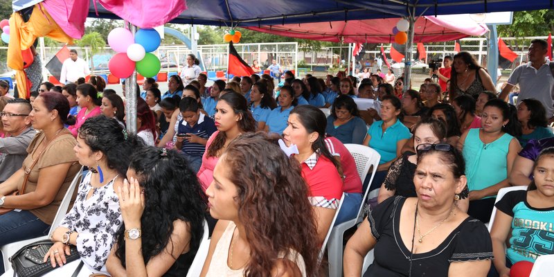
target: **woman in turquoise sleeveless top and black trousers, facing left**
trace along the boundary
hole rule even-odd
[[[481,128],[468,129],[458,141],[465,159],[470,208],[467,214],[489,222],[498,190],[510,186],[508,176],[521,146],[515,107],[502,100],[490,100],[481,116]]]

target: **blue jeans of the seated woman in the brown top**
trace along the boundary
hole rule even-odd
[[[29,211],[11,211],[0,215],[0,246],[48,235],[49,231],[50,225],[42,222]],[[3,272],[3,260],[0,259],[0,273]]]

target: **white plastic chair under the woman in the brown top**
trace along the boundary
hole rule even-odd
[[[48,231],[48,235],[43,235],[39,238],[31,238],[29,240],[21,240],[19,242],[12,242],[10,244],[6,244],[3,247],[0,248],[0,251],[2,252],[2,258],[4,262],[4,269],[10,269],[12,267],[12,263],[10,260],[8,260],[15,252],[17,252],[21,247],[26,246],[27,244],[30,244],[31,242],[35,242],[37,240],[46,240],[50,238],[54,230],[57,228],[57,226],[60,226],[62,223],[62,220],[64,219],[64,216],[67,213],[67,209],[69,208],[69,204],[71,203],[71,198],[73,197],[73,193],[75,192],[75,188],[78,187],[78,184],[81,183],[82,179],[82,167],[77,172],[77,175],[73,178],[73,181],[71,181],[71,184],[69,185],[69,188],[67,188],[67,191],[64,195],[64,198],[62,199],[62,202],[60,203],[60,207],[57,209],[56,216],[54,217],[54,221],[52,222],[52,225],[50,227],[50,231]]]

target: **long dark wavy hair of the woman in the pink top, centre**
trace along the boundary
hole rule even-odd
[[[240,120],[238,120],[237,125],[242,134],[247,132],[256,132],[256,120],[252,117],[250,110],[248,109],[247,99],[238,92],[228,92],[220,97],[220,101],[225,101],[235,114],[240,115]],[[213,139],[212,144],[208,147],[207,157],[217,156],[217,151],[223,148],[227,135],[225,132],[217,133],[215,139]]]

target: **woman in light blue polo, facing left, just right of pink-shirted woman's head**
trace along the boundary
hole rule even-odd
[[[265,123],[271,109],[277,107],[275,99],[267,93],[267,85],[264,82],[256,82],[250,91],[250,112],[258,123],[258,130],[265,128]]]

